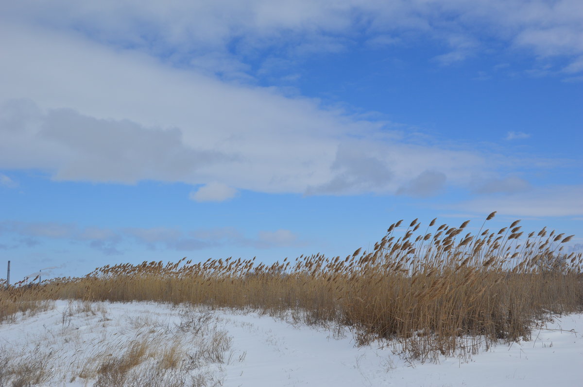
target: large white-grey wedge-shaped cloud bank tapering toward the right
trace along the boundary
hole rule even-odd
[[[60,180],[357,194],[395,191],[430,167],[465,184],[493,165],[476,152],[399,140],[386,122],[273,88],[60,33],[0,30],[0,168],[40,168]]]

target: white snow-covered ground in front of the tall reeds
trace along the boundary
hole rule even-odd
[[[567,315],[537,329],[529,342],[500,344],[468,362],[412,365],[378,343],[355,347],[349,331],[342,336],[252,312],[57,301],[54,310],[0,325],[0,367],[2,353],[11,364],[44,358],[52,382],[42,385],[92,386],[100,364],[142,342],[150,352],[135,367],[138,374],[170,369],[156,361],[173,347],[189,359],[175,377],[167,375],[179,385],[580,386],[582,334],[583,315]]]

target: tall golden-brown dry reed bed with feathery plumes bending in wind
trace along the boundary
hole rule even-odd
[[[495,212],[486,220],[494,217]],[[59,278],[43,286],[0,293],[0,320],[34,300],[156,300],[290,310],[307,324],[349,326],[360,343],[392,339],[409,358],[436,360],[475,352],[499,339],[528,339],[548,315],[583,310],[582,254],[564,254],[573,236],[524,235],[520,221],[472,236],[436,226],[403,236],[394,223],[374,250],[345,258],[301,256],[272,265],[227,258],[192,264],[143,262],[98,268],[83,278]]]

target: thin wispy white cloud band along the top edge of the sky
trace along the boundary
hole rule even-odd
[[[537,55],[583,54],[579,0],[22,0],[3,2],[0,10],[6,20],[75,31],[180,65],[194,59],[195,66],[215,71],[215,59],[222,58],[215,69],[235,77],[250,70],[245,56],[265,48],[291,56],[338,52],[360,36],[389,44],[429,37],[451,48],[441,56],[446,62],[491,39]]]

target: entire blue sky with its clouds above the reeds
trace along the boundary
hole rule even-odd
[[[583,244],[578,0],[2,2],[0,46],[13,281],[491,211]]]

